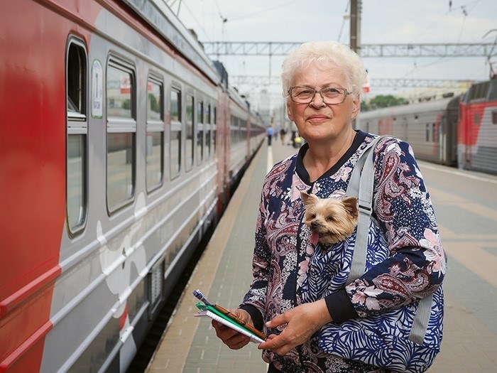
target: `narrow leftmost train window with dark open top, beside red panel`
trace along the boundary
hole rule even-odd
[[[75,38],[67,48],[66,208],[71,234],[82,230],[87,216],[87,54]]]

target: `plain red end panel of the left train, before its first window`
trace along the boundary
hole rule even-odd
[[[64,4],[71,9],[75,2]],[[0,371],[37,372],[65,225],[65,45],[58,4],[8,1],[0,23]],[[89,4],[82,17],[94,19]],[[53,58],[53,56],[60,56]]]

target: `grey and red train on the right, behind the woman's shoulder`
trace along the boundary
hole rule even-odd
[[[423,161],[497,174],[497,79],[455,97],[361,112],[356,128],[408,141]]]

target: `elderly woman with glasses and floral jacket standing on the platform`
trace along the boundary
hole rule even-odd
[[[365,79],[359,56],[334,42],[305,43],[283,63],[288,117],[307,144],[264,180],[253,282],[234,310],[268,335],[259,345],[268,372],[388,372],[374,352],[372,358],[351,357],[329,336],[338,335],[349,320],[370,320],[435,291],[442,298],[445,261],[435,214],[413,151],[403,141],[386,138],[374,149],[373,217],[378,223],[369,229],[379,249],[368,246],[364,275],[346,285],[354,234],[324,247],[310,242],[300,192],[343,198],[351,171],[374,137],[352,127]],[[325,291],[312,285],[320,278],[327,281]],[[231,349],[249,342],[213,325]],[[441,329],[441,319],[438,325]],[[337,338],[345,344],[342,350],[363,349],[361,341]]]

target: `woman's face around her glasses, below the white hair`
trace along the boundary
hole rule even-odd
[[[345,88],[351,87],[346,83],[344,72],[334,65],[322,70],[317,65],[297,71],[293,86],[300,85],[315,90],[325,87]],[[297,104],[291,99],[287,101],[288,118],[295,121],[297,129],[307,142],[333,141],[340,135],[352,131],[351,121],[359,113],[359,95],[349,94],[342,104],[324,104],[319,93],[315,94],[310,104]]]

